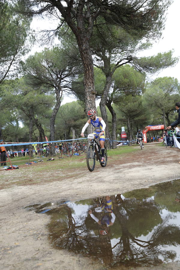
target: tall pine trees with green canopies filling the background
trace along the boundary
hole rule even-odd
[[[120,140],[122,126],[133,140],[146,125],[170,125],[179,101],[178,79],[149,80],[149,75],[179,59],[171,50],[138,55],[161,37],[172,1],[64,2],[68,8],[54,1],[0,3],[1,139],[79,138],[86,112],[96,110],[98,99],[97,114],[111,140]],[[58,26],[37,35],[30,27],[33,16],[55,19]],[[59,43],[50,46],[55,38]],[[37,40],[47,46],[29,55]],[[77,101],[61,105],[64,94]],[[149,135],[156,137],[157,131]]]

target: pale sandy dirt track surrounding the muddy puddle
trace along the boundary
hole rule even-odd
[[[93,172],[82,168],[76,171],[75,176],[68,179],[60,177],[50,184],[1,189],[0,269],[105,269],[91,258],[52,248],[46,227],[49,217],[27,211],[24,207],[62,199],[76,201],[113,195],[180,179],[179,151],[149,143],[143,150],[119,156],[114,163],[111,159],[105,168],[96,164]],[[7,172],[0,172],[0,179],[4,173]],[[8,178],[13,179],[17,175],[18,170],[8,171]],[[180,264],[136,269],[177,270]]]

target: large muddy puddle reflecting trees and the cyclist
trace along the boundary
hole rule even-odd
[[[105,266],[180,260],[180,180],[76,202],[29,205],[48,214],[49,244]]]

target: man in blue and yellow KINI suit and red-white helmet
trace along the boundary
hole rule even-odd
[[[93,125],[94,127],[94,132],[92,134],[95,135],[95,138],[98,138],[97,135],[99,135],[99,143],[101,146],[101,163],[104,163],[104,142],[105,142],[105,128],[106,124],[102,117],[95,116],[95,110],[89,110],[88,111],[88,117],[90,118],[84,125],[81,131],[81,136],[84,137],[84,131],[88,127],[89,124]]]

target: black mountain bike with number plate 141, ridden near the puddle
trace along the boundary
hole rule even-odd
[[[91,141],[89,142],[89,145],[87,146],[87,151],[86,151],[86,162],[88,169],[90,172],[92,172],[95,168],[95,162],[96,160],[100,162],[102,167],[105,167],[107,164],[107,150],[106,147],[104,146],[104,163],[101,163],[101,146],[97,143],[95,140],[95,135],[94,134],[88,134],[88,139]]]

